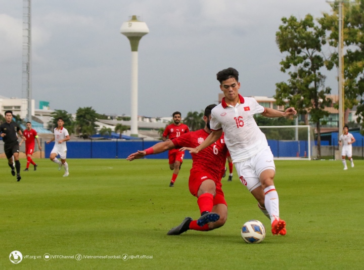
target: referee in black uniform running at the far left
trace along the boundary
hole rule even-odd
[[[19,142],[17,133],[22,139],[25,139],[20,126],[13,121],[13,112],[5,112],[5,123],[0,125],[0,136],[4,141],[4,151],[8,158],[9,167],[12,169],[12,175],[15,176],[15,169],[17,171],[17,181],[20,181],[20,161],[19,161]],[[13,156],[15,160],[15,168],[13,163]]]

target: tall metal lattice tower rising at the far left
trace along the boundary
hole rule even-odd
[[[23,0],[23,76],[22,98],[28,101],[27,119],[31,121],[31,0]],[[22,106],[25,107],[25,106]]]

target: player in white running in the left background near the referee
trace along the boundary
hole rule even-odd
[[[67,146],[66,141],[69,141],[69,133],[66,128],[63,127],[64,121],[62,117],[57,118],[58,126],[54,129],[54,138],[48,141],[47,144],[56,141],[55,145],[51,151],[50,159],[58,164],[58,170],[61,170],[62,165],[65,167],[64,177],[69,175],[68,172],[68,163],[66,162],[67,157]],[[61,161],[57,159],[57,156],[60,156]]]

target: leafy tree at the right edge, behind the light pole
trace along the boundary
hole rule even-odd
[[[344,55],[344,108],[356,109],[357,122],[361,122],[361,133],[364,134],[364,0],[356,0],[356,5],[344,5],[343,39],[345,46]],[[349,6],[350,5],[350,6]],[[328,36],[330,46],[338,47],[338,5],[333,4],[333,14],[324,13],[319,20]],[[332,55],[332,60],[338,66],[337,50]],[[347,119],[346,119],[347,120]]]

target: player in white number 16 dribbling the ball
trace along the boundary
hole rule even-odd
[[[217,73],[220,89],[224,94],[222,102],[212,109],[211,133],[191,153],[198,153],[214,143],[224,132],[233,163],[241,183],[258,201],[260,210],[270,219],[274,235],[286,235],[286,222],[279,217],[278,193],[274,186],[276,167],[265,135],[257,126],[253,116],[289,117],[297,112],[288,108],[285,112],[260,106],[253,98],[239,95],[239,73],[234,68]],[[182,149],[183,150],[183,149]]]

